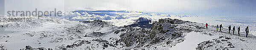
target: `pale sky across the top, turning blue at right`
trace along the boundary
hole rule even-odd
[[[57,8],[62,11],[126,10],[194,16],[256,16],[256,0],[5,0],[4,4],[5,13]]]

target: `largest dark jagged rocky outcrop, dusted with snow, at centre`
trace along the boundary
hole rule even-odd
[[[154,22],[151,29],[123,26],[120,31],[115,32],[121,32],[121,35],[114,45],[130,47],[136,44],[134,49],[148,48],[151,45],[162,43],[173,46],[184,40],[184,33],[192,32],[192,29],[183,25],[186,22],[188,21],[166,18],[159,19],[159,22]]]

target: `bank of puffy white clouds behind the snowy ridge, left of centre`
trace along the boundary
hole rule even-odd
[[[58,17],[58,18],[65,18],[72,21],[93,21],[93,20],[111,20],[111,19],[124,19],[128,17],[138,17],[138,15],[132,15],[132,14],[117,14],[117,16],[109,16],[105,14],[104,16],[99,16],[95,14],[89,14],[87,12],[65,12],[63,14],[64,16]],[[126,16],[123,16],[126,15]]]

